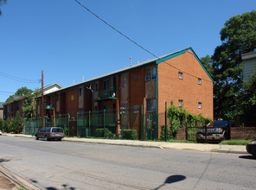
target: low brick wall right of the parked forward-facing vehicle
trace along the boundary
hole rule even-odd
[[[231,139],[256,139],[256,127],[233,127],[230,129]]]

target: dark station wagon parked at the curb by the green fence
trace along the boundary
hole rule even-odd
[[[35,133],[35,140],[44,138],[46,141],[49,139],[61,141],[64,136],[65,134],[61,127],[44,127]]]

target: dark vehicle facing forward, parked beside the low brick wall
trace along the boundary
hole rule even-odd
[[[221,142],[230,139],[230,127],[238,126],[234,121],[213,121],[198,129],[197,142]]]

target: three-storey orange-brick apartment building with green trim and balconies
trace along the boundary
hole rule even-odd
[[[138,113],[159,116],[165,111],[165,102],[170,105],[172,100],[176,106],[213,119],[213,79],[192,48],[50,92],[44,96],[43,115],[53,118],[68,113],[68,121],[72,122],[83,112],[105,110],[114,114],[112,123],[106,127],[120,133],[121,120],[127,120],[121,113],[130,110],[126,116],[130,121],[124,122],[125,128],[141,133]],[[42,115],[41,102],[41,97],[37,98],[38,117]],[[134,117],[132,122],[131,117]],[[144,118],[144,122],[149,120]],[[163,122],[160,117],[153,120],[159,137]]]

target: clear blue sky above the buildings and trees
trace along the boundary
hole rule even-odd
[[[133,41],[161,56],[192,47],[201,58],[221,45],[231,17],[255,0],[80,0]],[[154,57],[100,22],[74,0],[9,0],[1,7],[0,72],[17,80],[73,85]],[[0,73],[0,102],[24,83]]]

